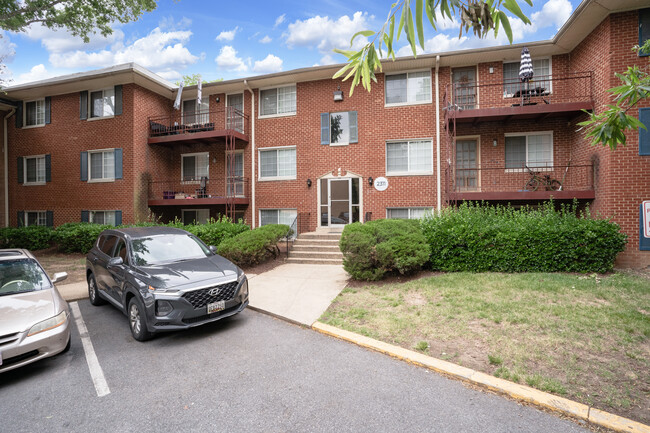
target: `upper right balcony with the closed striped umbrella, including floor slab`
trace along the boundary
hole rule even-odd
[[[529,83],[453,83],[445,92],[445,119],[476,124],[578,115],[593,109],[592,89],[592,72],[539,76]]]

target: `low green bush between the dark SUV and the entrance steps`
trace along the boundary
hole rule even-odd
[[[284,224],[268,224],[224,240],[217,252],[237,265],[256,265],[279,253],[278,242],[291,233]]]

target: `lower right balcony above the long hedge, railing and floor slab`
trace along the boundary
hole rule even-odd
[[[532,173],[522,168],[453,168],[445,173],[446,192],[452,201],[543,201],[593,200],[592,163],[552,165],[532,168],[539,182],[531,182]],[[548,176],[548,178],[546,178]],[[547,180],[557,180],[552,184]]]

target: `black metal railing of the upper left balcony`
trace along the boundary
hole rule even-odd
[[[183,112],[149,118],[149,137],[230,130],[248,134],[249,115],[233,107],[221,110]]]

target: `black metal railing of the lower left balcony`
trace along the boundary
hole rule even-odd
[[[225,200],[229,197],[248,198],[249,181],[233,176],[219,180],[187,179],[149,182],[149,200],[170,200],[170,204],[191,204],[191,200]],[[172,202],[172,200],[175,200]],[[180,200],[186,200],[181,202]]]

